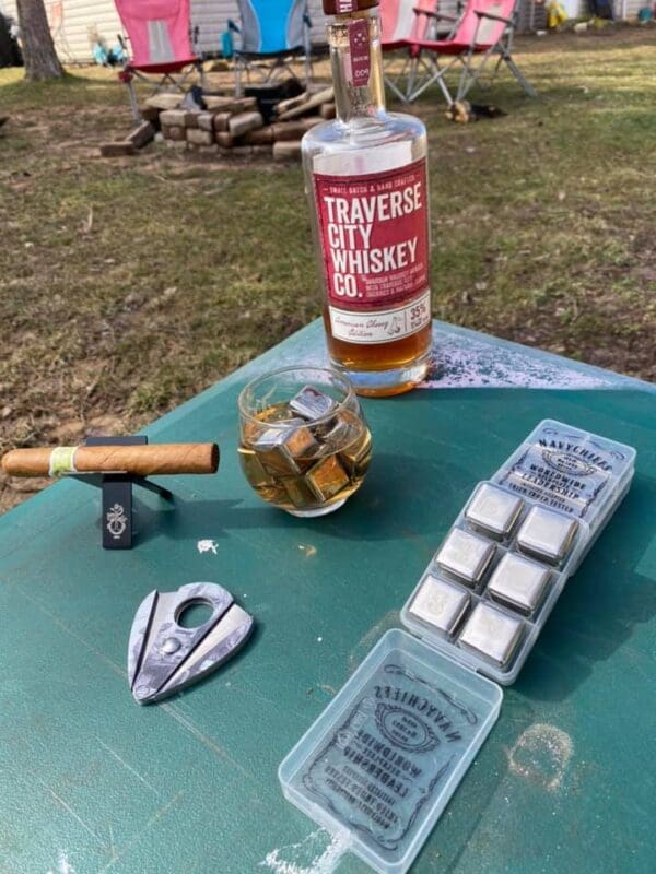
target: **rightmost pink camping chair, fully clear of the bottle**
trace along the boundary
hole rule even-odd
[[[440,85],[449,106],[462,101],[472,85],[482,84],[481,76],[485,67],[495,55],[499,57],[491,80],[501,64],[505,63],[528,96],[536,97],[534,87],[512,57],[517,2],[518,0],[468,0],[459,19],[418,10],[419,15],[452,21],[455,26],[446,39],[421,39],[413,43],[406,101],[411,103],[417,99],[434,82]],[[441,66],[443,58],[447,60]],[[462,69],[453,96],[444,78],[457,63],[462,64]]]

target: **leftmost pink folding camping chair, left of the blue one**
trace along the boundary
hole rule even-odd
[[[185,82],[194,71],[202,74],[200,59],[189,43],[189,0],[115,0],[116,10],[128,34],[132,58],[119,73],[128,86],[134,120],[141,114],[134,91],[134,78],[160,91],[185,92]],[[149,76],[159,76],[156,81]]]

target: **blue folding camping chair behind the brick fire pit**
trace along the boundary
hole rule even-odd
[[[239,34],[235,48],[235,93],[242,95],[242,75],[258,72],[271,82],[296,56],[304,57],[305,85],[312,78],[307,0],[237,0],[241,24],[230,21]],[[290,72],[292,72],[290,70]],[[293,73],[292,73],[293,75]]]

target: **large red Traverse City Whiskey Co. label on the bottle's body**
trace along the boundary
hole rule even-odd
[[[329,304],[389,309],[427,290],[425,160],[314,181]]]

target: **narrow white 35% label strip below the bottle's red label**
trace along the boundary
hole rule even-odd
[[[388,343],[421,331],[431,321],[431,292],[425,290],[396,309],[358,312],[329,306],[330,328],[337,340],[349,343]]]

